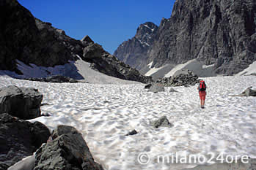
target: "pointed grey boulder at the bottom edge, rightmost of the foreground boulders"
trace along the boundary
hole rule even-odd
[[[52,134],[52,141],[36,152],[34,170],[100,170],[89,152],[83,136],[71,126],[59,125]]]

